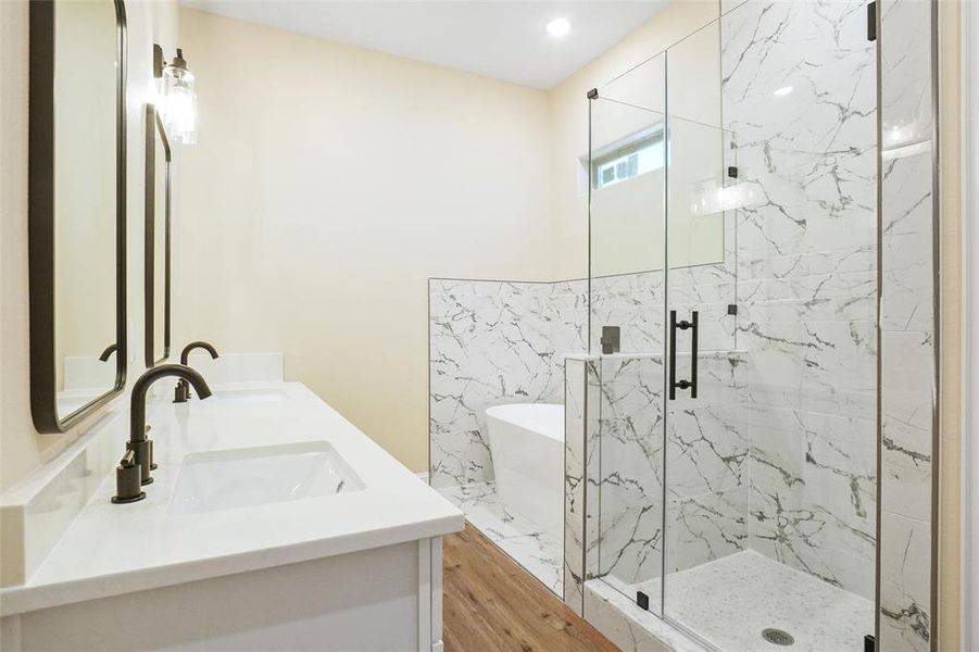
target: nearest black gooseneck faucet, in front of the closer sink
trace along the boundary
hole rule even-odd
[[[193,385],[193,390],[201,399],[211,396],[211,388],[204,377],[183,364],[161,364],[147,369],[133,385],[129,399],[129,441],[126,442],[126,454],[115,468],[116,494],[114,503],[136,502],[146,498],[140,487],[153,481],[150,475],[153,464],[153,441],[147,437],[147,392],[150,386],[166,376],[177,376]]]

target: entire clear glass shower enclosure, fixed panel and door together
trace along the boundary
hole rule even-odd
[[[707,647],[874,634],[865,8],[744,2],[589,99],[587,577]]]

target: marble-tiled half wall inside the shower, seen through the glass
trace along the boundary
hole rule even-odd
[[[600,361],[601,510],[593,573],[616,586],[660,577],[664,554],[672,573],[748,544],[745,358],[730,351],[699,358],[699,397],[680,392],[666,402],[665,435],[662,356]],[[651,595],[655,611],[654,603],[658,595]]]

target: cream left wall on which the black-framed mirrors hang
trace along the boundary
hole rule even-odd
[[[142,364],[143,102],[151,98],[152,43],[176,45],[176,3],[127,0],[127,299],[129,383]],[[27,305],[27,2],[0,1],[0,489],[10,487],[81,435],[38,435],[29,410]],[[124,399],[117,399],[124,400]]]

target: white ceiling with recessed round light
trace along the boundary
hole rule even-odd
[[[668,0],[181,0],[185,7],[550,89]],[[564,17],[572,30],[548,35]]]

